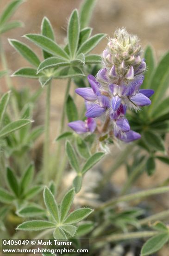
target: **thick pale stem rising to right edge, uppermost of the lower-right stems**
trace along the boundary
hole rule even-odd
[[[162,194],[162,193],[166,193],[166,192],[169,192],[169,187],[162,187],[162,188],[156,188],[156,189],[147,189],[147,190],[143,190],[143,191],[140,191],[140,192],[137,192],[137,193],[119,196],[119,197],[117,197],[113,200],[102,203],[100,205],[100,207],[95,209],[95,211],[105,209],[105,208],[113,206],[113,205],[115,205],[119,202],[129,202],[129,201],[136,200],[136,199],[141,199],[141,198],[144,198],[144,197],[147,197],[147,196],[150,196],[150,195],[157,195],[157,194]]]

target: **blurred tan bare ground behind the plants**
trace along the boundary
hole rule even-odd
[[[9,2],[10,0],[0,0],[0,10]],[[82,0],[27,0],[19,7],[13,16],[13,20],[23,21],[25,27],[3,34],[2,38],[11,74],[20,67],[28,66],[28,63],[10,46],[7,38],[26,42],[36,51],[39,57],[42,57],[38,47],[21,38],[21,36],[27,33],[40,33],[41,21],[44,16],[47,16],[54,27],[57,42],[64,44],[69,15],[74,8],[81,5],[81,2]],[[110,37],[113,36],[116,28],[126,27],[129,33],[138,35],[143,48],[147,44],[151,44],[155,49],[156,59],[159,59],[169,49],[169,0],[97,0],[90,26],[93,27],[94,34],[106,33]],[[93,53],[101,54],[105,47],[106,39],[101,41]],[[1,63],[0,69],[2,69]],[[18,89],[25,86],[30,87],[32,93],[40,87],[36,80],[12,78],[12,81]],[[57,134],[65,85],[66,81],[64,80],[55,80],[52,84],[51,142]],[[0,90],[2,93],[7,90],[4,79],[0,82]],[[44,121],[44,108],[44,94],[42,93],[36,110],[35,120],[38,123]],[[37,148],[41,150],[42,140],[38,143]],[[169,150],[169,138],[166,143],[166,148]],[[51,143],[51,145],[54,147],[54,143]],[[118,151],[119,149],[114,148],[114,150]],[[104,170],[110,168],[112,164],[113,160],[110,156],[105,162]],[[147,174],[142,175],[137,182],[137,186],[144,189],[150,188],[168,178],[168,166],[157,162],[156,173],[151,177],[148,177]],[[120,168],[113,176],[113,183],[122,184],[124,181],[125,168]],[[155,209],[155,211],[169,208],[169,202],[163,196],[156,196],[156,201],[158,202],[158,209]],[[163,251],[159,255],[167,256],[168,253]]]

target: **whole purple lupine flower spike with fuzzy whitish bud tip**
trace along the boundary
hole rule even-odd
[[[70,128],[78,134],[97,132],[100,138],[107,135],[106,138],[125,142],[141,137],[130,129],[125,118],[127,108],[137,111],[150,105],[149,98],[154,93],[150,89],[140,89],[146,69],[141,52],[136,35],[128,34],[125,28],[115,31],[102,54],[103,68],[96,77],[88,75],[91,88],[75,90],[86,101],[87,120],[70,122]]]

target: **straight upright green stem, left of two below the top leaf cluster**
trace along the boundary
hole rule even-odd
[[[46,109],[45,109],[45,123],[44,123],[44,184],[48,183],[49,178],[49,163],[50,163],[50,93],[51,81],[46,86]]]

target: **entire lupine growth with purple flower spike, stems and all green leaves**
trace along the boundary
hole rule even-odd
[[[13,0],[1,13],[0,36],[21,27],[19,21],[8,20],[22,2]],[[89,238],[91,256],[114,255],[117,248],[119,255],[130,248],[134,255],[154,255],[169,242],[169,210],[153,213],[145,199],[169,192],[169,180],[142,191],[135,182],[145,172],[155,173],[156,160],[166,168],[169,165],[165,146],[169,53],[156,64],[152,47],[143,50],[138,37],[125,28],[117,29],[112,38],[107,36],[107,42],[106,34],[91,35],[88,24],[95,3],[84,0],[80,10],[71,13],[64,45],[56,42],[47,17],[39,34],[24,35],[42,50],[42,56],[25,42],[9,39],[31,64],[12,76],[38,79],[35,94],[29,88],[13,87],[0,45],[4,68],[0,77],[5,76],[8,87],[0,99],[1,238],[76,238],[76,247],[81,247],[80,238]],[[106,44],[102,54],[91,54],[102,39]],[[60,88],[65,96],[58,133],[52,138],[56,149],[51,152],[51,88],[59,86],[59,79],[67,81],[67,86]],[[46,94],[44,126],[36,120],[33,125],[41,94]],[[80,96],[84,103],[79,103]],[[40,135],[44,153],[40,162],[33,163],[31,153]],[[114,158],[111,168],[103,171],[110,155]],[[110,192],[111,178],[122,165],[125,183]],[[95,180],[94,173],[100,180]],[[92,191],[85,183],[87,176],[94,180]],[[65,180],[70,182],[65,185]],[[85,188],[94,199],[85,197]]]

